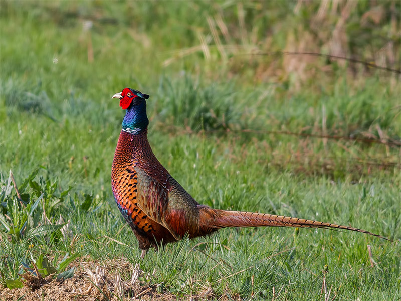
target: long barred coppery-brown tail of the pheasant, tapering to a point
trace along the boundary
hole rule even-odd
[[[300,228],[325,228],[325,229],[344,229],[349,231],[361,232],[376,237],[383,238],[385,240],[392,241],[384,236],[371,233],[366,230],[336,225],[332,223],[323,223],[313,220],[306,220],[296,217],[254,213],[254,212],[242,212],[242,211],[226,211],[217,210],[217,214],[214,216],[213,226],[217,228],[223,227],[300,227]]]

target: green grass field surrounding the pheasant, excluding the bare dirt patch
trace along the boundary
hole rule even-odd
[[[110,188],[124,114],[110,97],[128,86],[151,95],[153,151],[199,203],[351,224],[397,242],[327,230],[223,229],[148,252],[141,285],[178,298],[210,289],[212,299],[272,299],[274,287],[277,300],[323,300],[327,265],[330,299],[399,300],[399,77],[320,58],[289,72],[285,57],[243,55],[256,46],[288,48],[295,29],[303,34],[296,48],[312,36],[312,50],[325,52],[340,11],[316,34],[319,5],[298,14],[296,5],[0,2],[0,285],[41,254],[55,266],[66,253],[79,254],[77,262],[139,262]],[[399,24],[395,6],[383,2]],[[383,35],[393,38],[389,17],[360,21],[369,9],[358,2],[346,21],[349,51],[367,59],[386,45]],[[224,54],[207,22],[219,14],[229,29],[229,36],[218,31]],[[93,27],[83,30],[82,20]],[[210,57],[202,49],[183,55],[201,44],[199,34],[211,35]],[[8,183],[10,169],[24,206]],[[65,237],[60,216],[69,221]],[[10,230],[25,220],[25,232]],[[110,272],[123,280],[131,273]]]

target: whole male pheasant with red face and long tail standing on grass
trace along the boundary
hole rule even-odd
[[[296,217],[226,211],[197,203],[168,173],[153,154],[147,140],[149,95],[125,88],[112,98],[126,110],[111,170],[111,186],[122,215],[131,226],[142,249],[175,242],[186,234],[204,236],[225,227],[308,227],[371,232]],[[388,240],[388,239],[387,239]]]

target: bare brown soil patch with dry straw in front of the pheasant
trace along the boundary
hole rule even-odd
[[[65,280],[53,279],[52,275],[47,278],[38,279],[32,276],[26,279],[23,288],[0,289],[3,301],[95,301],[95,300],[176,300],[209,299],[213,296],[211,292],[205,295],[193,295],[177,297],[169,292],[160,292],[157,285],[144,285],[138,279],[133,283],[131,280],[123,281],[120,276],[121,270],[133,271],[132,264],[128,262],[110,262],[109,265],[97,265],[94,262],[75,262],[76,272],[72,278]]]

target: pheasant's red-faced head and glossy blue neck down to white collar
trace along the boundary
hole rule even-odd
[[[146,130],[149,120],[146,116],[146,99],[149,95],[138,90],[125,88],[113,95],[120,99],[120,107],[127,110],[122,122],[122,130],[130,134],[139,134]]]

